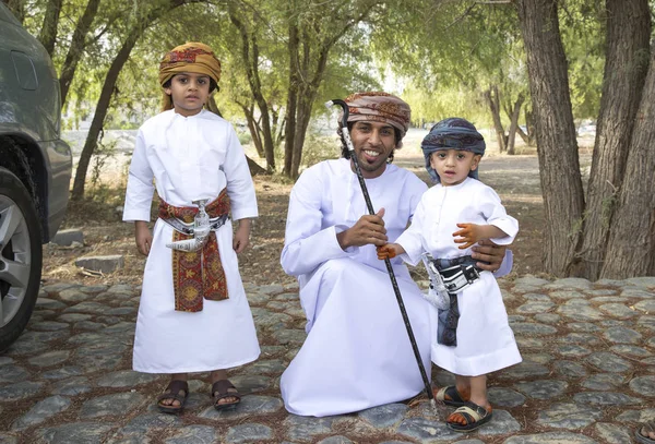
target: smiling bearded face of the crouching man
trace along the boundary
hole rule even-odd
[[[386,168],[386,159],[396,146],[395,129],[384,122],[355,122],[350,139],[361,176],[372,179],[382,175]]]

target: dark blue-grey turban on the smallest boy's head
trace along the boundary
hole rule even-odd
[[[430,166],[430,155],[442,149],[463,149],[474,154],[485,155],[485,139],[468,120],[452,117],[438,122],[420,144],[426,158],[426,169],[434,182],[439,182],[439,175]],[[477,169],[471,171],[468,177],[477,179]]]

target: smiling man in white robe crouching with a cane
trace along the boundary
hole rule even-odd
[[[368,215],[349,153],[308,168],[289,200],[282,266],[300,284],[307,339],[282,375],[288,411],[323,417],[417,395],[424,388],[405,325],[376,245],[407,227],[427,185],[390,163],[409,127],[409,106],[385,93],[346,99],[348,129],[377,211]],[[362,216],[364,215],[364,216]],[[487,254],[483,254],[487,253]],[[489,253],[491,255],[489,255]],[[502,248],[474,257],[496,269]],[[430,373],[436,310],[400,259],[392,260],[422,364]]]

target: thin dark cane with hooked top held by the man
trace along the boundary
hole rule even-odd
[[[361,192],[364,194],[364,200],[366,201],[366,206],[369,211],[369,214],[374,215],[376,211],[373,209],[371,197],[369,196],[368,189],[366,188],[366,182],[364,181],[364,177],[361,176],[361,169],[359,169],[359,161],[357,159],[357,156],[355,155],[355,147],[353,146],[353,141],[350,140],[350,133],[348,132],[348,105],[341,99],[334,99],[325,103],[325,107],[327,107],[329,109],[334,105],[337,105],[343,109],[343,117],[341,121],[342,134],[344,136],[344,141],[346,141],[346,146],[350,152],[350,158],[353,159],[353,164],[355,164],[355,171],[357,173],[357,179],[359,180],[359,185],[361,187]],[[409,336],[409,343],[412,343],[412,349],[414,350],[414,357],[416,358],[416,363],[418,364],[418,370],[420,371],[420,377],[422,377],[424,380],[426,392],[428,394],[428,398],[430,399],[430,405],[432,406],[434,411],[437,411],[434,394],[432,393],[432,388],[430,387],[430,381],[428,380],[426,369],[422,365],[422,360],[420,359],[420,351],[418,350],[418,346],[416,345],[414,331],[412,329],[412,324],[409,323],[409,316],[407,316],[407,310],[405,310],[403,296],[401,295],[398,283],[396,281],[395,274],[393,273],[391,261],[389,259],[385,259],[384,265],[386,265],[386,272],[389,273],[389,277],[391,278],[391,285],[393,286],[393,292],[395,293],[396,301],[398,302],[398,308],[401,309],[401,314],[403,315],[403,321],[405,322],[405,328],[407,329],[407,336]]]

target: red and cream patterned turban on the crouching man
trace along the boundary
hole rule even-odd
[[[356,93],[346,98],[348,122],[377,121],[391,124],[398,130],[401,139],[409,128],[409,105],[386,93]],[[341,122],[341,119],[340,119]],[[341,129],[338,130],[341,135]],[[398,146],[400,147],[400,146]]]

